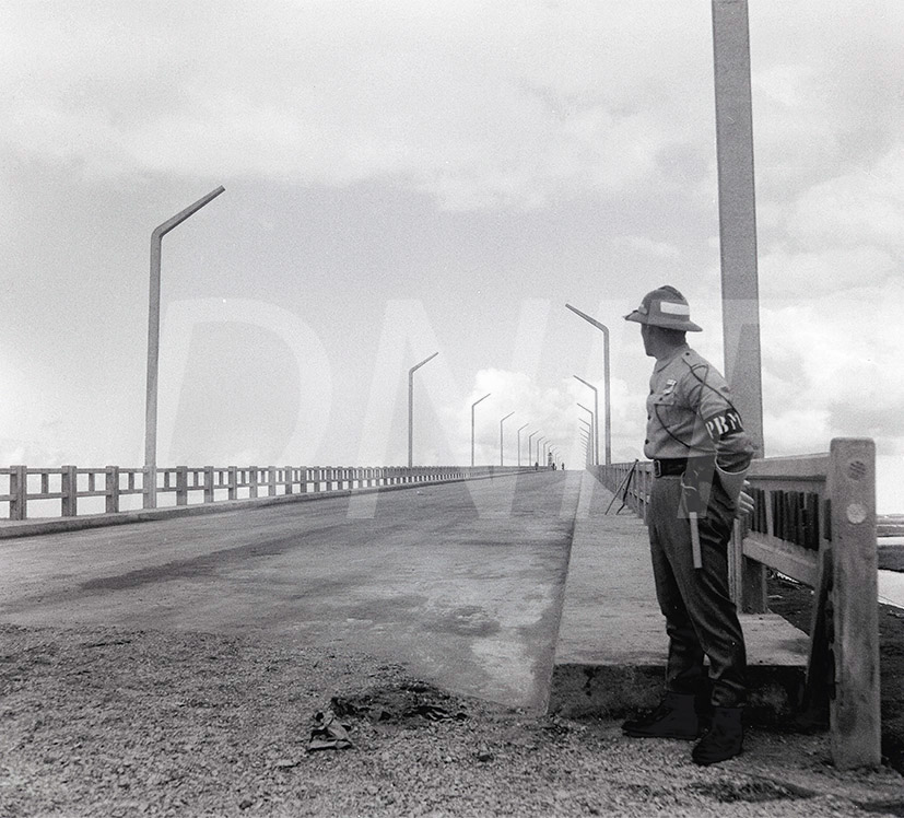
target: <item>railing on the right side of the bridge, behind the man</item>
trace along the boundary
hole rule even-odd
[[[598,476],[617,502],[645,518],[651,464],[601,466]],[[742,604],[751,588],[764,598],[761,565],[814,589],[801,706],[810,718],[827,710],[836,767],[878,767],[874,444],[835,439],[827,454],[754,460],[748,479],[755,509],[736,523],[729,552],[732,598]]]

